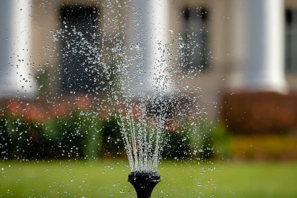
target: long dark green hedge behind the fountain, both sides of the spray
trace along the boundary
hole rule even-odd
[[[98,158],[126,155],[119,120],[99,118],[88,109],[44,119],[42,110],[24,116],[15,109],[0,115],[1,158]],[[36,113],[37,112],[37,113]],[[183,125],[182,130],[162,133],[163,158],[213,156],[214,124]],[[201,151],[201,152],[200,152]]]

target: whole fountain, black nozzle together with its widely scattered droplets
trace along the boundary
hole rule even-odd
[[[128,22],[122,23],[117,16],[110,19],[109,14],[116,15],[113,8],[115,5],[121,11],[118,14],[123,14]],[[99,7],[103,10],[100,20]],[[12,124],[7,122],[5,130],[17,132],[19,128],[14,129],[13,125],[30,120],[28,118],[32,116],[26,117],[26,113],[28,109],[35,109],[39,114],[33,115],[30,122],[36,130],[45,131],[45,139],[52,141],[63,138],[52,134],[58,128],[63,131],[63,135],[69,137],[68,143],[72,147],[68,150],[61,148],[61,144],[52,145],[56,150],[62,150],[62,157],[96,158],[96,152],[92,149],[97,146],[100,130],[95,128],[102,128],[102,120],[115,115],[115,123],[122,135],[122,139],[118,138],[117,141],[123,141],[131,169],[128,182],[135,188],[138,198],[150,198],[154,187],[161,181],[157,171],[166,141],[170,136],[183,135],[178,142],[178,146],[182,148],[189,135],[183,125],[198,125],[205,114],[198,104],[197,96],[191,95],[195,91],[201,91],[199,86],[190,86],[191,80],[200,69],[197,67],[185,70],[188,58],[184,49],[189,47],[187,42],[195,39],[188,37],[185,41],[181,34],[176,35],[170,29],[170,14],[166,13],[169,12],[168,7],[170,4],[166,0],[132,0],[128,4],[115,0],[101,4],[97,2],[95,6],[87,4],[85,7],[62,4],[61,28],[53,31],[51,37],[54,47],[45,49],[46,52],[55,51],[59,49],[57,45],[61,42],[61,52],[57,56],[61,64],[57,69],[62,76],[61,94],[57,98],[61,98],[62,102],[55,104],[56,96],[50,96],[54,98],[52,100],[46,98],[49,105],[45,106],[50,109],[50,112],[46,112],[39,108],[44,104],[30,106],[29,103],[25,105],[23,102],[10,101],[8,111],[20,116],[16,110],[19,108],[25,115],[24,119],[13,117]],[[85,16],[82,13],[86,13]],[[76,24],[78,22],[86,25],[79,26]],[[106,34],[108,31],[112,32],[112,36]],[[75,58],[81,61],[76,61]],[[72,70],[70,66],[73,66]],[[40,70],[42,76],[45,70],[42,66],[38,68]],[[88,78],[94,78],[94,81],[88,82]],[[105,103],[99,102],[99,90],[102,95],[106,95],[101,97],[101,101]],[[78,96],[77,93],[80,92],[85,95]],[[46,94],[48,93],[45,91]],[[70,95],[69,98],[67,94]],[[40,98],[42,95],[37,96],[34,102],[38,103]],[[96,102],[98,104],[94,104]],[[76,110],[69,111],[74,108]],[[106,109],[112,109],[112,112]],[[107,112],[107,115],[98,120],[97,117],[102,112]],[[70,115],[69,119],[65,115]],[[57,119],[61,121],[56,122]],[[86,129],[86,123],[91,130]],[[26,133],[34,134],[35,131],[30,130],[29,127]],[[169,134],[167,137],[166,132]],[[36,135],[36,139],[38,138]],[[21,136],[18,140],[22,139],[24,138]],[[75,144],[85,144],[85,147],[91,149],[85,152],[79,146],[75,147]],[[198,147],[195,144],[193,146]],[[78,151],[73,154],[75,149]],[[186,158],[189,153],[196,155],[197,150],[189,148],[180,155]]]

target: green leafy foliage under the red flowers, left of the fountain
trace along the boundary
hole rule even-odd
[[[44,123],[24,121],[5,112],[0,117],[2,157],[97,157],[103,122],[88,111]]]

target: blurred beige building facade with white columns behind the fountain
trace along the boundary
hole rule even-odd
[[[103,23],[108,24],[108,20],[124,10],[117,7],[114,8],[118,9],[115,13],[108,11],[108,6],[100,9],[101,3],[103,2],[100,0],[2,2],[1,13],[5,10],[9,13],[4,13],[1,17],[0,42],[3,48],[0,95],[13,97],[17,95],[15,93],[21,96],[28,92],[29,95],[38,95],[39,85],[35,82],[38,84],[40,79],[36,76],[41,73],[45,74],[43,77],[51,76],[44,85],[47,86],[47,94],[84,91],[96,87],[98,89],[94,78],[101,81],[104,76],[98,77],[92,72],[92,75],[87,75],[80,66],[84,65],[86,68],[96,65],[96,61],[84,60],[99,60],[96,52],[101,46],[94,44],[95,36],[84,37],[85,44],[71,46],[71,42],[81,41],[69,32],[96,35],[96,25],[99,27]],[[120,3],[125,4],[124,0],[120,0]],[[196,94],[203,95],[201,103],[208,106],[209,114],[217,113],[218,110],[214,109],[216,103],[226,92],[288,93],[297,89],[297,1],[172,0],[169,3],[166,1],[164,6],[168,10],[164,13],[163,20],[169,21],[169,27],[173,31],[173,35],[169,29],[167,31],[169,40],[178,33],[183,37],[193,33],[199,44],[193,54],[185,49],[191,61],[186,63],[184,69],[195,67],[201,70],[192,83],[202,88],[201,93]],[[108,17],[102,17],[106,14]],[[122,15],[127,16],[125,13]],[[125,23],[130,19],[127,17],[121,20]],[[73,24],[69,23],[84,26],[80,28],[77,25],[73,28]],[[15,24],[18,25],[6,28]],[[118,28],[118,31],[114,31],[111,26],[107,26],[104,34],[112,37],[119,31],[126,31],[121,26]],[[61,29],[67,31],[57,35]],[[5,35],[7,33],[9,35]],[[104,45],[104,48],[109,48],[112,43]],[[187,45],[192,50],[192,44]],[[72,53],[91,48],[92,52],[87,53],[88,55]],[[57,58],[57,54],[60,58]],[[19,66],[18,63],[23,65]],[[14,68],[17,66],[19,70]],[[77,73],[81,74],[79,79],[74,77]],[[20,84],[26,80],[27,87]],[[22,89],[27,93],[19,93]]]

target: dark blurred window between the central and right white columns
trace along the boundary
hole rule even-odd
[[[208,65],[208,13],[202,7],[186,8],[183,11],[184,54],[182,64],[185,68],[204,70]],[[204,69],[203,69],[204,68]]]

